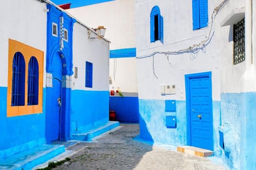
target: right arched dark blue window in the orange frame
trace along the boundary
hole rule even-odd
[[[31,57],[28,62],[27,105],[38,105],[38,60]]]

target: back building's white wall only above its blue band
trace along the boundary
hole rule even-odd
[[[104,25],[110,49],[122,49],[135,47],[134,6],[134,0],[117,0],[67,11],[90,27]]]

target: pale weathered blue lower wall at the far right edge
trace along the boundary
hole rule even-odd
[[[256,169],[256,93],[221,94],[222,159],[231,169]]]

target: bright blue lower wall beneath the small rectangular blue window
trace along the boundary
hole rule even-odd
[[[71,134],[109,121],[109,91],[71,91]]]

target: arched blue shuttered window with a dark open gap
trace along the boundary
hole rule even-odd
[[[163,44],[163,16],[160,8],[154,6],[150,13],[150,42],[160,40]]]

